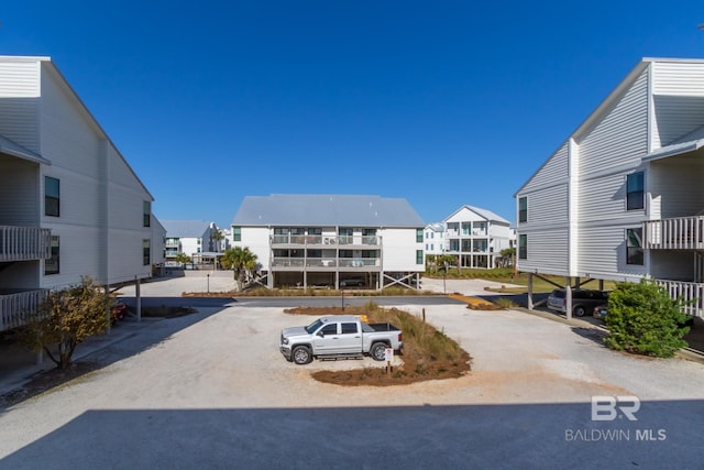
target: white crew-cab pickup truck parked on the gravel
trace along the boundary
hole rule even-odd
[[[353,315],[320,317],[307,327],[282,330],[279,350],[288,361],[307,364],[312,358],[348,359],[370,354],[377,361],[386,348],[400,352],[400,330],[392,324],[366,324]]]

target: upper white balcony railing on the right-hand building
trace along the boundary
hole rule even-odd
[[[644,247],[650,250],[704,250],[704,216],[645,221]]]

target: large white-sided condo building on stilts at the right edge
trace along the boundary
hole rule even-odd
[[[703,147],[704,61],[642,59],[516,193],[518,269],[650,277],[703,316]]]

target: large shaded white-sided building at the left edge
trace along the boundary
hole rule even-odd
[[[150,277],[154,198],[47,57],[0,57],[0,330],[47,289]]]

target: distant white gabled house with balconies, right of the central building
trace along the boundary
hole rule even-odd
[[[491,210],[462,206],[443,220],[446,253],[459,269],[496,267],[501,251],[512,247],[508,220]]]

